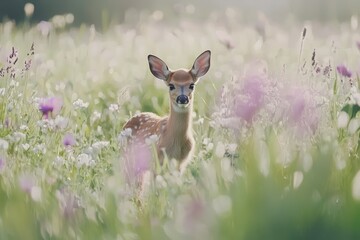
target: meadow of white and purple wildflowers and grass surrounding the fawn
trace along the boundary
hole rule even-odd
[[[360,239],[357,17],[72,20],[0,23],[0,239]],[[169,108],[147,55],[176,69],[207,49],[193,160],[153,156],[139,193],[122,126]]]

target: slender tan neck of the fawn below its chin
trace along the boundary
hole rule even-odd
[[[191,135],[192,129],[192,101],[186,109],[179,109],[171,105],[170,115],[167,122],[166,134],[173,138],[182,139]]]

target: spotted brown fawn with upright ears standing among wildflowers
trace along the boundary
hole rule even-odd
[[[131,118],[123,127],[130,132],[130,144],[144,144],[148,138],[155,138],[156,151],[160,163],[164,154],[169,159],[176,159],[180,171],[183,171],[191,157],[194,147],[192,133],[192,109],[195,84],[210,68],[211,52],[200,54],[192,68],[169,70],[160,58],[149,55],[151,73],[164,80],[169,87],[170,114],[159,117],[153,113],[140,113]]]

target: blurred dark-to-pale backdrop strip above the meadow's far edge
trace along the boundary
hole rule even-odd
[[[234,8],[245,20],[263,12],[274,21],[294,17],[300,21],[347,21],[360,11],[359,0],[1,0],[0,19],[22,22],[24,5],[32,3],[30,21],[49,20],[54,15],[72,14],[74,24],[101,26],[124,21],[132,11],[160,10],[164,17],[191,15],[204,19],[214,10]],[[130,10],[130,11],[129,11]],[[186,16],[189,17],[189,16]]]

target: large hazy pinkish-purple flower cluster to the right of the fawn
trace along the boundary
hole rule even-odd
[[[299,133],[317,129],[319,111],[314,99],[321,98],[318,93],[298,82],[270,78],[264,63],[248,68],[224,88],[213,116],[219,125],[239,130],[261,120],[264,124],[286,123]]]

